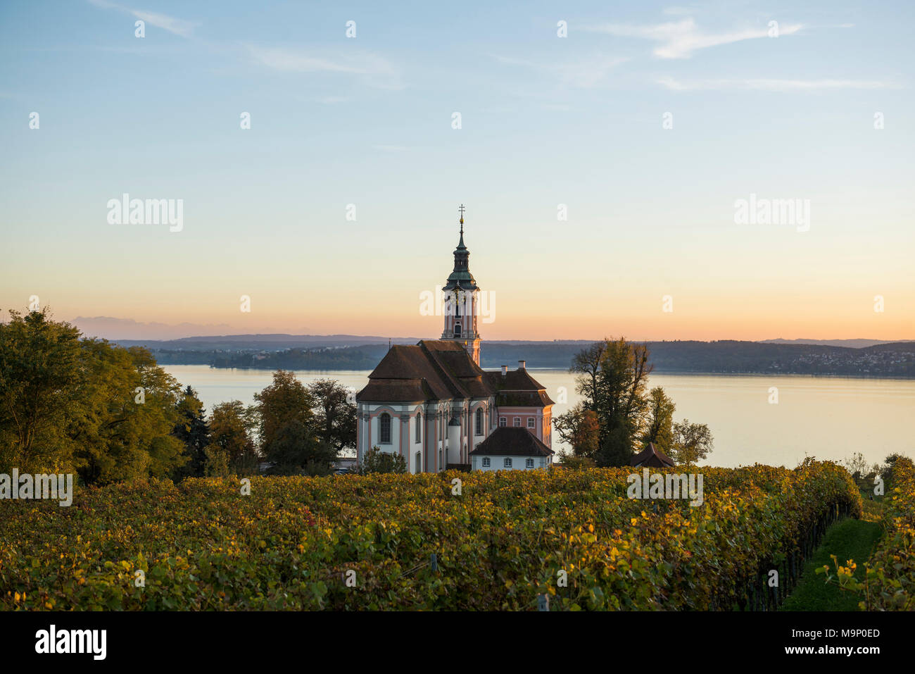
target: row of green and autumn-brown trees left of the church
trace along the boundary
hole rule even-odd
[[[332,379],[279,370],[254,395],[206,414],[145,348],[82,337],[48,310],[0,322],[0,473],[75,473],[83,484],[144,477],[329,474],[355,447],[356,406]]]

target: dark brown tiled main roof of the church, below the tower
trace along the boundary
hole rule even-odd
[[[415,345],[395,344],[369,375],[369,384],[356,396],[370,402],[415,402],[449,398],[499,396],[501,405],[553,405],[544,387],[526,370],[482,370],[454,340],[423,340]]]

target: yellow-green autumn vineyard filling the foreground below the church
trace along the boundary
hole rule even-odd
[[[877,554],[911,592],[915,490],[901,467],[910,482]],[[701,470],[696,507],[630,499],[622,468],[253,478],[250,495],[188,479],[83,489],[70,507],[5,501],[0,608],[535,610],[548,596],[551,610],[760,610],[830,521],[861,513],[830,462]]]

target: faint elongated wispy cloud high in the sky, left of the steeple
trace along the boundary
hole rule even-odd
[[[344,54],[316,53],[283,47],[249,46],[253,60],[274,71],[283,72],[337,72],[362,76],[379,89],[403,89],[401,73],[383,57],[371,52]]]

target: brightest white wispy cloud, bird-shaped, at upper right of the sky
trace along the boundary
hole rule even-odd
[[[585,30],[604,33],[615,38],[640,38],[660,42],[653,51],[661,59],[689,59],[693,52],[719,45],[732,44],[747,39],[768,38],[769,27],[751,27],[724,32],[705,32],[695,25],[693,18],[662,24],[632,26],[630,24],[600,24],[585,26]],[[779,36],[792,35],[801,30],[801,24],[779,26]]]

